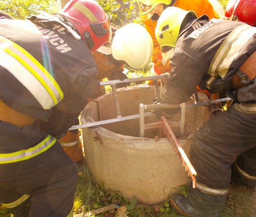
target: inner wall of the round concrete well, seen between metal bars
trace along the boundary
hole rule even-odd
[[[133,86],[118,91],[118,100],[122,117],[139,114],[139,104],[152,104],[154,97],[155,92],[153,86]],[[97,110],[97,115],[93,115],[94,121],[116,118],[117,114],[112,94],[105,94],[104,96],[97,98],[96,102],[96,108],[93,106]],[[194,103],[194,100],[190,99],[189,103]],[[206,115],[207,113],[205,113],[205,109],[201,109],[201,107],[187,109],[185,114],[185,134],[189,134],[199,128],[206,120]],[[172,121],[179,120],[180,112],[175,115]],[[160,120],[157,120],[155,116],[145,117],[145,123],[155,123],[159,121]],[[131,137],[139,137],[140,134],[139,119],[105,124],[103,127],[116,134]],[[179,127],[172,127],[172,130],[177,137],[180,136]],[[159,137],[159,135],[159,129],[157,128],[145,130],[146,138],[155,138]]]

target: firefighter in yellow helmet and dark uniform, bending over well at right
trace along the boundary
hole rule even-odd
[[[227,111],[195,132],[191,162],[198,174],[196,188],[187,198],[178,194],[171,200],[180,214],[217,217],[231,179],[256,186],[256,28],[170,7],[158,20],[156,37],[162,52],[175,47],[163,103],[186,102],[197,85],[226,91],[233,99]],[[163,109],[162,114],[172,118],[177,111]]]

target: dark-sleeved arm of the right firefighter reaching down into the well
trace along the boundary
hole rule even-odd
[[[203,72],[191,58],[184,54],[176,53],[170,64],[173,68],[162,103],[184,103],[195,92],[196,86],[203,78]],[[170,119],[178,111],[179,109],[163,109],[162,113]]]

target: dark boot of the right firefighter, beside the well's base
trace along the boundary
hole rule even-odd
[[[186,197],[182,194],[177,194],[170,200],[171,206],[177,211],[177,213],[189,217],[218,217],[218,213],[212,214],[201,209],[193,207]]]

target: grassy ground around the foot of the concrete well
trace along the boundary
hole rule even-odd
[[[129,217],[182,217],[177,214],[169,205],[169,200],[163,201],[156,206],[141,204],[133,197],[127,200],[117,191],[105,191],[102,184],[97,184],[87,167],[84,165],[84,174],[79,178],[77,184],[74,211],[76,213],[90,211],[110,204],[126,206],[126,214]],[[180,188],[186,194],[188,188]],[[228,200],[219,217],[255,217],[256,194],[253,190],[244,187],[230,185]],[[82,204],[82,205],[81,205]],[[157,210],[157,211],[156,211]],[[115,214],[116,211],[111,211]],[[105,212],[97,217],[106,217],[109,212]]]

